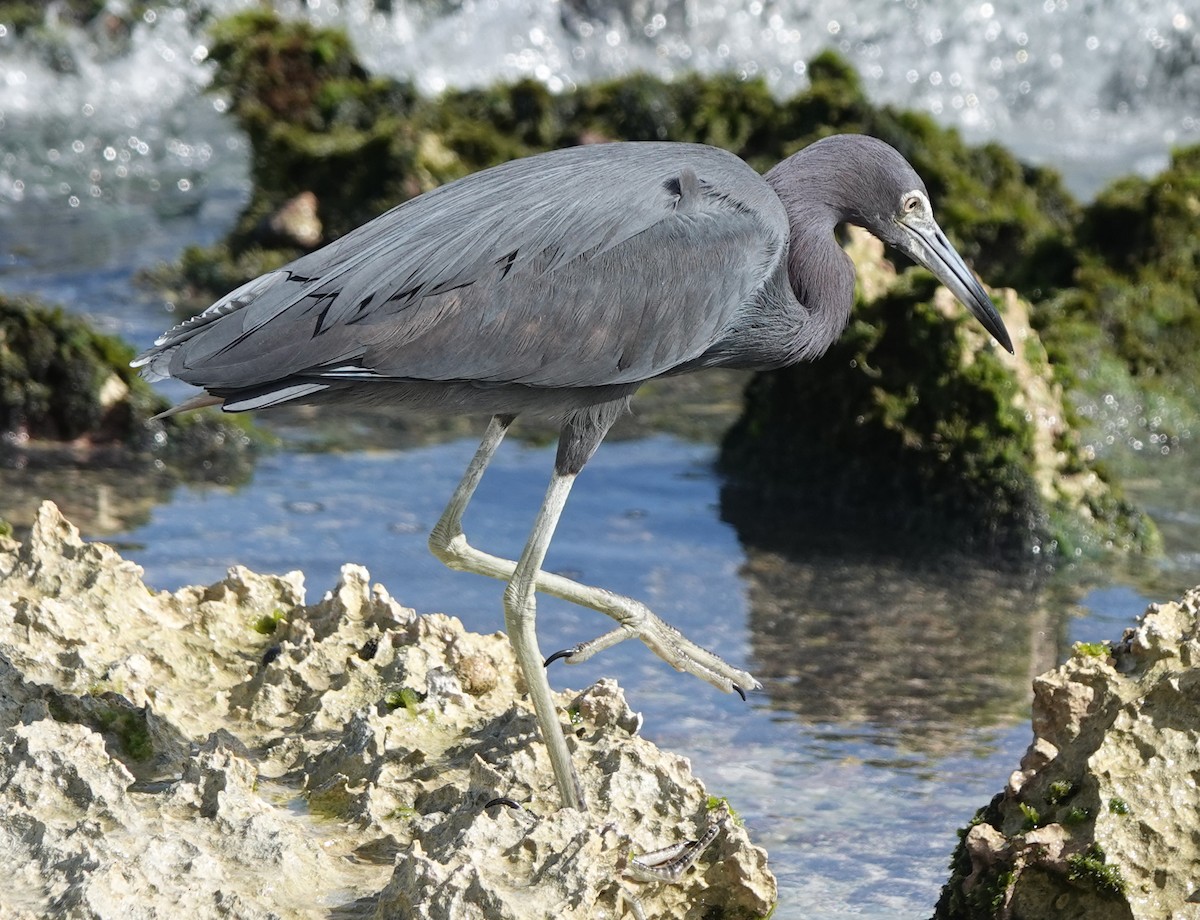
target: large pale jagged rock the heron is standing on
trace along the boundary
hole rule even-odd
[[[502,635],[347,565],[154,593],[46,504],[0,539],[0,915],[751,918],[766,853],[620,690],[563,696],[557,808]],[[487,804],[499,796],[521,808]],[[630,854],[720,834],[679,884]]]

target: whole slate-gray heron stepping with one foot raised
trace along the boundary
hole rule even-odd
[[[583,808],[534,635],[535,591],[618,623],[556,657],[582,661],[637,637],[726,692],[758,684],[637,601],[541,570],[571,483],[647,380],[821,355],[853,303],[853,265],[834,237],[844,222],[932,271],[1012,350],[920,178],[887,144],[847,134],[766,176],[695,144],[599,144],[505,163],[238,288],[133,363],[204,389],[173,411],[352,402],[490,414],[430,546],[451,569],[508,582],[505,625],[562,800]],[[462,515],[522,413],[553,416],[562,433],[512,561],[472,547]]]

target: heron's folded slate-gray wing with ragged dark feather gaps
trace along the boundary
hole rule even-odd
[[[242,285],[134,362],[212,391],[322,380],[600,386],[698,357],[784,257],[721,150],[605,144],[478,173]]]

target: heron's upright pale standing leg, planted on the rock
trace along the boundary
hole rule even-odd
[[[575,774],[575,768],[571,765],[571,752],[566,747],[566,736],[563,734],[563,726],[558,718],[558,708],[551,694],[546,668],[542,667],[541,651],[538,649],[538,633],[534,630],[536,620],[535,591],[541,564],[546,559],[550,540],[554,535],[554,527],[563,513],[563,506],[566,504],[572,482],[575,482],[574,474],[564,475],[558,471],[550,480],[550,488],[546,489],[546,498],[538,511],[529,540],[516,563],[509,587],[504,589],[504,627],[509,635],[509,642],[512,643],[517,665],[521,667],[529,687],[533,708],[538,715],[538,724],[541,727],[541,736],[550,750],[550,762],[554,768],[554,780],[558,783],[563,806],[587,811],[583,789]]]

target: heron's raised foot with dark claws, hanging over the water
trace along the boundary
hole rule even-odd
[[[719,655],[714,655],[708,649],[701,648],[670,623],[654,614],[644,605],[629,599],[622,600],[625,603],[622,606],[619,614],[605,611],[613,619],[619,620],[620,626],[590,642],[583,642],[570,649],[556,651],[546,659],[545,665],[548,666],[551,662],[559,660],[565,661],[568,665],[578,665],[593,655],[612,648],[617,643],[636,638],[646,643],[650,651],[676,671],[694,674],[726,693],[736,692],[745,699],[746,690],[760,690],[762,687],[762,684],[755,680],[749,672],[736,668]]]

